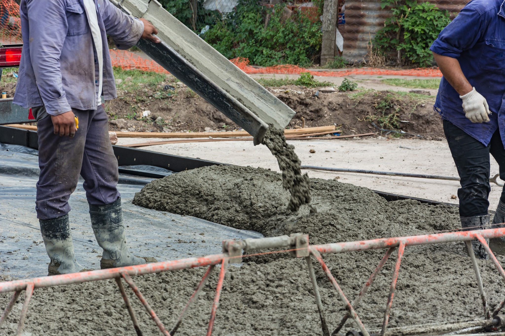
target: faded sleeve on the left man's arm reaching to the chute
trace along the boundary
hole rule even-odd
[[[144,24],[121,12],[109,0],[98,0],[105,31],[111,36],[118,49],[131,48],[142,36]]]

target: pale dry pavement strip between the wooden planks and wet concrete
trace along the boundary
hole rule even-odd
[[[118,145],[156,140],[119,138]],[[363,140],[297,140],[289,143],[295,146],[295,151],[303,165],[458,176],[445,141],[368,138]],[[142,149],[279,171],[277,162],[268,149],[263,145],[254,147],[251,142],[168,144]],[[309,152],[311,149],[314,149],[316,153],[311,154]],[[451,195],[457,194],[460,186],[458,181],[314,170],[307,172],[311,177],[332,179],[339,176],[341,182],[371,189],[446,203],[458,203],[458,199],[451,198]],[[496,173],[498,173],[498,165],[491,158],[491,175]],[[489,196],[491,210],[497,206],[500,192],[501,187],[491,184]]]

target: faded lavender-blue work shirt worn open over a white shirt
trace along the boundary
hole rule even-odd
[[[128,49],[144,24],[109,0],[95,0],[95,7],[104,54],[102,93],[110,100],[117,95],[107,35],[119,49]],[[97,57],[82,0],[22,0],[20,16],[23,52],[13,103],[44,105],[51,115],[96,109]]]

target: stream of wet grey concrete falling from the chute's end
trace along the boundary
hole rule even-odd
[[[286,143],[284,131],[270,125],[263,137],[263,145],[277,159],[282,171],[282,186],[291,193],[288,209],[298,211],[300,206],[311,203],[309,175],[301,174],[301,161],[294,152],[294,146]]]

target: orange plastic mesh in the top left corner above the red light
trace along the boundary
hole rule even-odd
[[[0,0],[0,43],[23,43],[19,5],[12,0]]]

